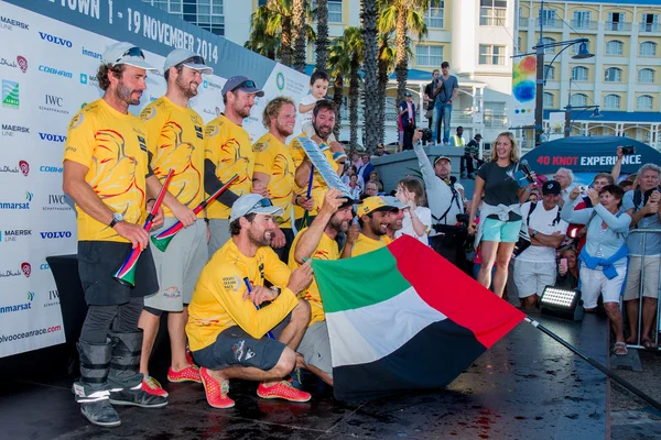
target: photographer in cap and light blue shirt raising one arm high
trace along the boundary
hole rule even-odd
[[[451,179],[451,158],[438,156],[432,165],[422,148],[419,141],[422,139],[423,130],[418,130],[413,136],[413,151],[418,156],[427,202],[432,210],[430,244],[434,251],[465,271],[464,242],[468,231],[465,224],[456,226],[460,221],[457,216],[464,213],[463,197]]]

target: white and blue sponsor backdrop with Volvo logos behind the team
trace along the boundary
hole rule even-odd
[[[257,140],[261,112],[279,95],[296,102],[308,77],[148,4],[130,0],[0,0],[0,358],[65,342],[59,296],[46,256],[76,253],[76,212],[62,190],[62,156],[73,116],[101,97],[105,48],[129,41],[155,67],[175,47],[205,56],[191,106],[205,122],[223,110],[227,78],[247,75],[266,96],[245,127]],[[138,114],[165,91],[150,74]]]

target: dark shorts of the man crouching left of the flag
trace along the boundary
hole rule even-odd
[[[286,327],[290,318],[291,314],[271,331],[275,338]],[[216,342],[192,354],[195,363],[209,370],[253,366],[261,371],[269,371],[278,364],[285,346],[268,336],[254,339],[239,326],[234,326],[223,330],[216,338]]]

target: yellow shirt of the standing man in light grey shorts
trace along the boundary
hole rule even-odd
[[[204,121],[195,110],[182,108],[166,97],[147,106],[140,119],[147,127],[154,175],[163,184],[170,169],[174,169],[167,190],[195,209],[204,200]],[[165,205],[163,213],[173,216]]]

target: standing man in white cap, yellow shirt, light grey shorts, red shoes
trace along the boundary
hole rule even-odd
[[[140,114],[147,127],[147,146],[154,172],[147,179],[152,194],[158,194],[167,173],[174,172],[163,198],[165,219],[162,230],[177,220],[184,224],[164,251],[152,251],[160,290],[144,298],[139,321],[144,332],[140,373],[144,375],[147,389],[160,396],[167,396],[167,393],[149,375],[149,359],[163,311],[167,312],[171,348],[167,381],[201,382],[197,367],[186,359],[185,326],[195,283],[208,260],[203,213],[196,216],[193,212],[204,200],[204,121],[188,107],[188,101],[197,95],[202,75],[213,72],[202,56],[175,48],[163,66],[167,82],[165,96],[147,106]]]

